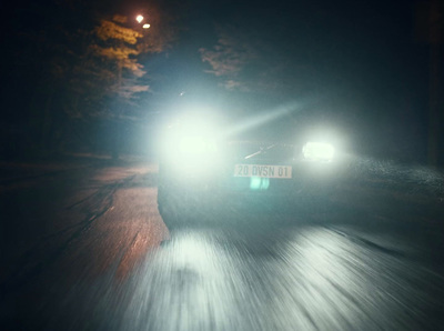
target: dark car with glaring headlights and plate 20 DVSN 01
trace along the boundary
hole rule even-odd
[[[233,208],[325,208],[341,173],[336,148],[325,134],[285,141],[279,128],[270,119],[229,122],[202,113],[169,122],[159,143],[158,184],[168,228],[209,223],[209,213]]]

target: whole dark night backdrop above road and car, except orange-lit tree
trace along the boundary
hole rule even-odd
[[[292,104],[295,123],[333,126],[355,153],[442,164],[442,10],[432,0],[14,2],[2,10],[1,156],[147,154],[185,92],[228,114]],[[139,12],[152,36],[171,32],[135,57],[149,90],[125,100],[87,87],[98,73],[75,74],[99,42],[91,31],[114,14],[130,27]]]

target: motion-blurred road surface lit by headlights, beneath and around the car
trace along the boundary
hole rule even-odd
[[[226,207],[170,233],[155,164],[0,165],[2,330],[444,328],[432,170],[385,164],[329,209]]]

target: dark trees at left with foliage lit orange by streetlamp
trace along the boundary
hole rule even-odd
[[[94,126],[115,138],[120,120],[138,119],[151,81],[144,64],[175,37],[171,16],[143,11],[139,23],[84,0],[12,6],[1,33],[1,158],[97,147]]]

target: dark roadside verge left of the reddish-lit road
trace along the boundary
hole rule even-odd
[[[134,188],[145,194],[157,185],[157,165],[130,157],[118,162],[78,154],[48,162],[3,161],[0,172],[2,294],[40,274],[83,238],[114,209],[117,192]]]

